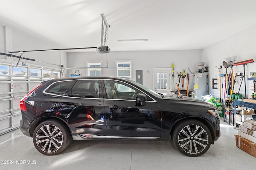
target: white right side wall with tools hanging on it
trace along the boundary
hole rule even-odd
[[[215,67],[222,65],[225,58],[237,56],[236,62],[244,61],[248,59],[254,59],[254,63],[249,63],[245,66],[246,70],[246,96],[250,95],[253,90],[252,81],[247,81],[247,77],[250,76],[250,72],[256,71],[256,25],[253,25],[231,37],[228,37],[210,47],[203,49],[202,57],[205,63],[210,64],[209,82],[211,83],[212,78],[218,78],[219,70]],[[233,66],[233,72],[244,72],[243,66]],[[221,74],[225,74],[226,69],[222,68]],[[228,68],[230,73],[230,68]],[[219,80],[218,80],[219,83]],[[237,84],[236,84],[237,85]],[[209,93],[214,94],[216,97],[220,97],[219,84],[218,90],[209,89]],[[238,87],[239,88],[239,87]],[[244,81],[240,93],[245,97]]]

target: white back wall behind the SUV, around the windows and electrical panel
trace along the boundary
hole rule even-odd
[[[135,70],[143,70],[143,85],[152,89],[152,68],[172,68],[172,63],[174,63],[175,82],[177,82],[177,72],[185,70],[186,73],[190,73],[188,67],[194,72],[198,70],[198,62],[202,62],[202,50],[110,51],[108,54],[108,68],[102,69],[103,76],[116,76],[116,60],[132,60],[131,79],[135,80]],[[68,67],[86,67],[88,61],[103,61],[103,66],[106,66],[106,54],[96,52],[68,53]],[[74,70],[67,70],[67,74],[69,75]],[[150,73],[147,74],[146,70],[149,70]],[[79,69],[79,71],[82,76],[85,76],[87,69]],[[192,78],[193,76],[190,76],[189,90],[193,90]]]

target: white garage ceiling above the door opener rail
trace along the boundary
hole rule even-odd
[[[0,25],[59,48],[97,47],[104,13],[111,51],[203,49],[254,25],[255,7],[256,0],[0,0]]]

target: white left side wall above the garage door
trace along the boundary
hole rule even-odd
[[[5,33],[5,28],[8,33]],[[6,39],[6,41],[5,41]],[[42,37],[30,35],[28,33],[21,33],[17,30],[12,30],[8,27],[0,25],[0,52],[8,53],[6,51],[6,42],[9,47],[8,51],[29,51],[29,50],[40,50],[40,49],[56,49],[58,45],[56,43],[48,41]],[[10,44],[9,44],[10,43]],[[19,53],[14,55],[20,56]],[[63,65],[67,65],[67,54],[65,51],[41,51],[41,52],[27,52],[22,55],[29,59],[35,59],[36,61],[24,60],[27,65],[40,65],[42,67],[60,68],[60,62]],[[18,58],[7,57],[0,55],[1,61],[8,63],[16,63]],[[22,61],[20,61],[22,62]]]

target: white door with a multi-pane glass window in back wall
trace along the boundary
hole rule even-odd
[[[158,93],[170,93],[170,70],[154,70],[154,91]]]

